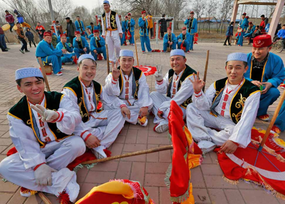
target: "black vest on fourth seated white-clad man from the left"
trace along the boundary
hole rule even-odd
[[[182,76],[181,76],[180,79],[179,79],[178,86],[177,86],[177,92],[178,92],[179,89],[181,88],[182,82],[183,82],[186,78],[188,78],[189,76],[191,76],[193,73],[197,74],[197,72],[196,72],[194,69],[192,69],[192,68],[190,68],[188,65],[186,65],[186,68],[183,70]],[[174,75],[174,70],[171,68],[171,69],[169,69],[169,71],[168,71],[169,85],[168,85],[167,92],[166,92],[166,96],[167,96],[167,97],[170,97],[170,96],[171,96],[171,93],[170,93],[170,92],[171,92],[171,90],[172,90],[172,87],[171,87],[171,86],[172,86],[173,75]],[[187,99],[181,104],[181,106],[186,109],[186,108],[187,108],[187,105],[190,104],[190,103],[192,103],[192,95],[191,95],[189,98],[187,98]]]

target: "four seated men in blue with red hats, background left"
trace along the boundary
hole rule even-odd
[[[67,43],[66,34],[60,34],[60,42],[56,45],[56,49],[51,44],[51,32],[44,32],[43,39],[36,48],[35,56],[42,59],[44,66],[51,63],[53,73],[58,76],[62,75],[62,64],[77,64],[77,60],[82,54],[91,52],[95,60],[102,60],[101,54],[103,54],[104,59],[107,60],[106,43],[104,38],[99,35],[99,30],[93,30],[90,46],[79,31],[75,31],[73,44]]]

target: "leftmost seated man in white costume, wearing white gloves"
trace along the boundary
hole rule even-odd
[[[35,191],[56,196],[68,194],[74,203],[79,194],[76,174],[65,168],[82,155],[85,144],[73,135],[81,117],[64,94],[45,92],[38,68],[16,70],[17,88],[25,96],[8,112],[10,136],[18,151],[0,163],[0,176],[21,186],[20,194]],[[57,110],[57,111],[55,111]]]

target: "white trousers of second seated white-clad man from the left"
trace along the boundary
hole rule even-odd
[[[85,124],[93,128],[91,134],[97,136],[101,140],[101,145],[108,148],[124,127],[125,120],[121,109],[112,109],[96,113],[94,117],[90,115],[89,121]]]

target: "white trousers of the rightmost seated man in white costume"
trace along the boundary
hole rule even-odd
[[[218,146],[232,135],[236,124],[223,116],[215,117],[210,111],[200,111],[191,103],[187,106],[187,126],[195,141],[208,140]],[[207,128],[208,127],[208,128]],[[220,132],[211,128],[219,129]]]

